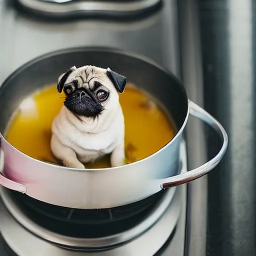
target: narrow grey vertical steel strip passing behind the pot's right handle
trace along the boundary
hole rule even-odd
[[[179,14],[183,84],[188,97],[204,108],[204,81],[197,0],[179,0]],[[208,83],[205,85],[208,86]],[[216,134],[213,135],[215,138]],[[188,119],[186,142],[190,169],[207,161],[205,129],[203,123],[196,118]],[[207,177],[208,175],[202,176],[187,185],[186,256],[205,256],[207,253]],[[214,183],[212,185],[214,186]],[[216,191],[216,186],[214,190]]]

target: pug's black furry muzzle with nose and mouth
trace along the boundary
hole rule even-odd
[[[103,110],[100,102],[84,89],[77,89],[68,95],[64,101],[64,105],[72,113],[86,117],[96,117]]]

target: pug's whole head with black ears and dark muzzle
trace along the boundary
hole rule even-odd
[[[110,68],[86,65],[61,74],[57,90],[64,91],[64,105],[73,114],[94,118],[116,107],[125,85],[126,78]]]

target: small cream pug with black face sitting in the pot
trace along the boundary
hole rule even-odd
[[[110,154],[112,167],[124,164],[124,118],[119,93],[126,77],[92,65],[71,67],[58,77],[64,104],[51,125],[50,148],[64,166],[84,168]]]

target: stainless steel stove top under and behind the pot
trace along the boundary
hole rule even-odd
[[[148,15],[129,20],[88,18],[85,12],[77,19],[56,20],[54,14],[54,20],[42,19],[17,1],[0,0],[4,63],[0,83],[40,54],[76,46],[109,46],[144,54],[165,66],[183,79],[190,99],[200,103],[197,40],[190,40],[197,34],[193,0],[179,0],[181,11],[177,0],[162,0]],[[188,124],[181,146],[181,172],[205,161],[201,134],[197,123]],[[206,177],[202,177],[147,200],[96,213],[41,204],[0,188],[0,255],[205,256],[206,194]]]

